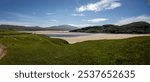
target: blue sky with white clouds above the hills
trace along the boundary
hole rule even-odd
[[[78,27],[150,23],[150,0],[0,0],[0,24]]]

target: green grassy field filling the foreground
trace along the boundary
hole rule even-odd
[[[150,65],[150,36],[68,44],[44,35],[0,31],[8,65]]]

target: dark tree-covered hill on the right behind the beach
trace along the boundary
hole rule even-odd
[[[147,22],[133,22],[130,24],[90,26],[81,29],[72,30],[70,32],[87,32],[87,33],[129,33],[129,34],[149,34],[150,24]]]

